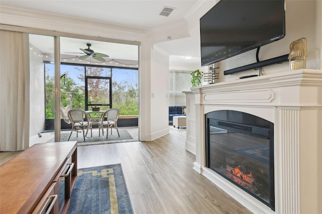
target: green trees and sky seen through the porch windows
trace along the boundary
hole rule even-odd
[[[76,68],[78,69],[78,68]],[[87,69],[87,74],[90,76],[102,75],[103,69],[92,67]],[[77,76],[81,81],[85,81],[85,76]],[[54,118],[54,77],[46,72],[46,119]],[[76,84],[75,81],[68,76],[68,73],[60,80],[62,92],[73,93],[73,109],[85,110],[85,83],[83,85]],[[138,84],[133,80],[135,87],[126,80],[121,82],[112,82],[112,108],[120,109],[120,115],[138,115]],[[108,104],[109,88],[108,81],[105,79],[89,79],[88,81],[88,98],[89,104]],[[70,94],[61,93],[61,103],[67,106],[70,100]],[[89,106],[90,109],[90,106]],[[101,110],[108,109],[107,106],[102,106]]]

